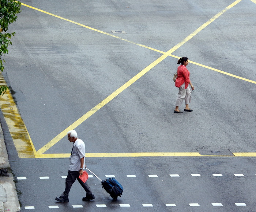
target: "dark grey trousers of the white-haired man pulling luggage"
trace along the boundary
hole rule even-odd
[[[76,181],[76,179],[78,180],[80,185],[82,185],[84,191],[88,195],[92,194],[91,189],[90,189],[89,185],[87,184],[87,182],[83,182],[82,180],[80,180],[80,178],[79,178],[79,171],[70,171],[70,170],[68,170],[68,176],[66,178],[65,191],[62,193],[62,195],[60,195],[61,197],[64,197],[64,198],[68,197],[68,193],[69,193],[69,191],[71,189],[71,186]]]

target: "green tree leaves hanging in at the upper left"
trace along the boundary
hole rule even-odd
[[[11,23],[16,21],[17,14],[20,12],[19,1],[15,0],[0,0],[0,70],[4,70],[1,56],[8,54],[8,46],[12,44],[11,37],[15,35],[15,32],[8,33],[8,27]],[[0,86],[0,94],[3,94],[7,90],[6,86]]]

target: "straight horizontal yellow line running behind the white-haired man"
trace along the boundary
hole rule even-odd
[[[198,152],[123,152],[123,153],[86,153],[85,157],[256,157],[255,152],[238,152],[234,156],[200,155]],[[67,158],[69,153],[38,154],[37,158]]]

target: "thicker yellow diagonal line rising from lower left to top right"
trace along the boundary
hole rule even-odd
[[[194,32],[192,32],[187,38],[182,40],[180,43],[175,45],[173,48],[171,48],[169,51],[165,52],[162,56],[160,56],[157,60],[155,60],[153,63],[151,63],[149,66],[144,68],[142,71],[139,72],[139,74],[135,75],[132,79],[130,79],[127,83],[125,83],[123,86],[121,86],[119,89],[114,91],[114,93],[110,94],[106,99],[104,99],[102,102],[100,102],[98,105],[96,105],[93,109],[88,111],[86,114],[84,114],[81,118],[79,118],[77,121],[75,121],[72,125],[67,127],[65,130],[63,130],[59,135],[57,135],[55,138],[53,138],[51,141],[49,141],[46,145],[44,145],[41,149],[37,151],[37,154],[42,154],[49,148],[51,148],[54,144],[56,144],[58,141],[61,140],[64,136],[67,135],[67,131],[75,129],[77,126],[79,126],[82,122],[84,122],[87,118],[89,118],[91,115],[93,115],[96,111],[101,109],[104,105],[106,105],[108,102],[110,102],[113,98],[115,98],[118,94],[120,94],[123,90],[127,89],[132,83],[137,81],[140,77],[142,77],[144,74],[146,74],[149,70],[151,70],[153,67],[155,67],[158,63],[162,62],[167,56],[171,55],[172,52],[177,50],[179,47],[181,47],[184,43],[188,42],[193,36],[195,36],[197,33],[199,33],[201,30],[203,30],[205,27],[207,27],[212,21],[217,19],[219,16],[221,16],[224,12],[226,12],[228,9],[236,5],[241,0],[236,0],[234,3],[230,4],[228,7],[223,9],[221,12],[219,12],[217,15],[212,17],[210,20],[208,20],[206,23],[204,23],[201,27],[197,28]],[[54,15],[55,16],[55,15]],[[105,34],[105,33],[104,33]]]

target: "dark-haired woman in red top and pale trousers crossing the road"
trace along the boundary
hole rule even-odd
[[[185,99],[185,109],[186,112],[193,111],[191,108],[189,108],[188,103],[191,102],[191,90],[188,87],[188,85],[191,86],[191,89],[194,90],[195,87],[192,85],[189,79],[189,71],[187,69],[188,65],[188,58],[183,57],[178,60],[178,63],[180,66],[178,66],[177,69],[177,79],[175,81],[175,86],[179,88],[178,92],[178,98],[176,100],[176,108],[174,110],[174,113],[183,113],[179,110],[179,107],[181,106],[183,100]]]

